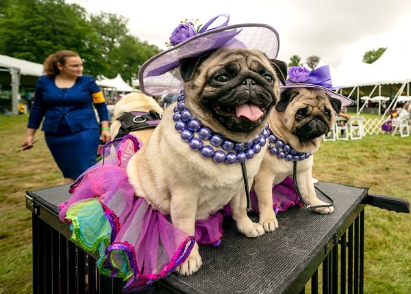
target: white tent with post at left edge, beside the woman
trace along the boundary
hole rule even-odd
[[[18,88],[20,85],[34,86],[37,78],[43,74],[42,70],[42,64],[0,55],[0,72],[10,73],[10,75],[1,75],[1,83],[9,83],[12,86],[13,114],[18,114]]]

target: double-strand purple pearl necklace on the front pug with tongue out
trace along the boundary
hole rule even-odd
[[[182,140],[187,142],[192,150],[199,151],[201,156],[211,158],[216,163],[244,163],[247,159],[252,159],[261,151],[261,147],[266,144],[266,138],[271,134],[268,124],[254,139],[243,143],[237,143],[219,133],[213,133],[210,128],[203,126],[200,120],[192,117],[190,109],[184,103],[183,91],[177,98],[173,120],[175,121],[175,129],[180,133]],[[210,145],[204,143],[206,140],[210,142]],[[214,151],[212,146],[221,146],[227,152]]]

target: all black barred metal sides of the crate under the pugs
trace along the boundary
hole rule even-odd
[[[93,256],[35,214],[32,220],[34,294],[123,293],[124,282],[99,274]],[[335,243],[300,293],[363,293],[364,210]],[[146,291],[171,292],[159,284]]]

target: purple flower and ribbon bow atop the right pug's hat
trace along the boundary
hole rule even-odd
[[[319,68],[314,68],[311,71],[303,66],[291,66],[288,68],[288,80],[286,83],[306,83],[319,85],[329,90],[339,88],[332,85],[329,66],[321,66]]]

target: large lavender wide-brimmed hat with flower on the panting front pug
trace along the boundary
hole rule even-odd
[[[209,29],[218,18],[225,19],[224,23]],[[198,31],[192,23],[180,24],[170,37],[173,46],[141,66],[138,74],[141,91],[149,96],[178,93],[184,85],[179,61],[214,49],[258,49],[269,58],[277,57],[279,38],[273,27],[253,23],[227,25],[228,21],[229,14],[221,14],[210,19]]]

